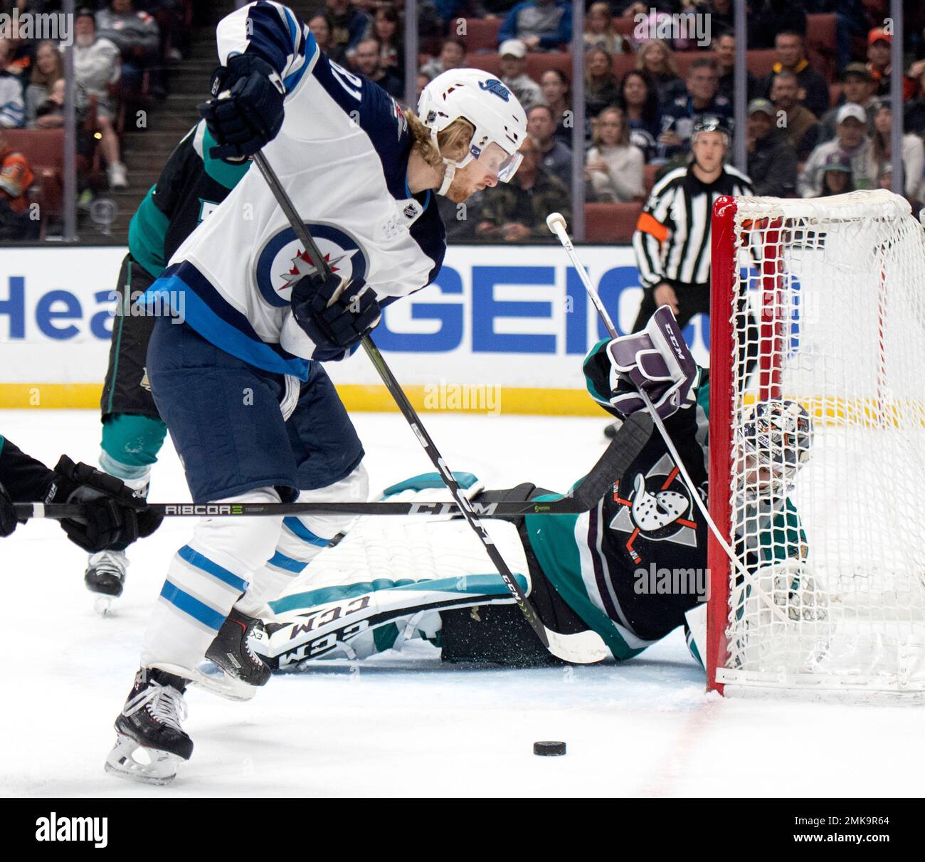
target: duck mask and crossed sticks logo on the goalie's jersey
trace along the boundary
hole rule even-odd
[[[624,496],[620,483],[614,483],[613,500],[621,508],[610,526],[628,535],[625,546],[635,563],[643,561],[633,547],[638,536],[650,542],[670,541],[697,548],[697,522],[691,518],[693,500],[668,455],[660,458],[645,476],[635,474],[632,484],[633,490]]]

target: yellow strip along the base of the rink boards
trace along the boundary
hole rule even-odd
[[[437,387],[409,386],[405,394],[423,414],[607,416],[585,389],[501,387],[497,393],[478,389],[439,392]],[[338,392],[349,411],[398,412],[384,386],[343,384]],[[0,409],[98,410],[102,394],[98,383],[0,383]]]

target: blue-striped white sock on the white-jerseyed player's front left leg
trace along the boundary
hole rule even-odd
[[[279,496],[260,488],[213,502],[278,503]],[[200,520],[189,544],[170,561],[144,634],[142,667],[196,667],[253,573],[273,553],[281,522],[278,517]]]

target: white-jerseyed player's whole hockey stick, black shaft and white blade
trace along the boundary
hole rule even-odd
[[[305,249],[310,249],[314,255],[314,265],[317,271],[325,278],[330,277],[331,270],[327,265],[324,255],[318,250],[317,245],[312,239],[311,233],[308,228],[305,227],[301,216],[299,216],[295,207],[292,205],[289,195],[279,183],[276,171],[270,166],[265,155],[261,152],[253,154],[253,162],[260,173],[263,174],[267,186],[269,186],[270,191],[273,192],[273,196],[277,199],[279,208],[289,221],[290,228],[292,228]],[[459,486],[459,483],[456,481],[446,462],[444,462],[443,456],[434,445],[434,441],[427,433],[426,428],[422,425],[411,401],[408,400],[408,397],[404,394],[401,386],[399,386],[395,376],[392,375],[391,369],[373,343],[373,339],[366,335],[363,337],[361,343],[363,344],[364,351],[366,351],[366,355],[382,378],[382,382],[386,385],[388,392],[398,405],[401,415],[404,416],[408,425],[411,425],[414,436],[418,438],[418,441],[427,453],[427,457],[437,468],[444,484],[450,489],[450,494],[456,502],[459,511],[462,512],[462,517],[465,518],[469,526],[472,527],[475,535],[478,536],[479,540],[482,542],[488,558],[498,570],[501,580],[504,581],[504,584],[511,591],[512,596],[517,601],[518,607],[524,612],[527,622],[530,623],[543,646],[547,647],[549,652],[554,656],[558,656],[560,659],[565,659],[566,661],[572,661],[575,664],[591,664],[595,661],[606,659],[611,653],[604,643],[603,638],[597,632],[588,630],[580,634],[558,634],[543,625],[543,622],[540,621],[539,617],[536,615],[536,609],[530,603],[524,590],[521,589],[521,586],[514,579],[507,563],[499,554],[498,548],[495,548],[491,536],[488,536],[487,530],[475,515],[475,511],[473,511],[469,500],[462,494],[462,488]]]

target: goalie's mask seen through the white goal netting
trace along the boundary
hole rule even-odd
[[[736,432],[737,471],[747,499],[780,499],[809,459],[813,428],[796,401],[762,400]]]

